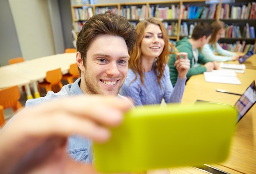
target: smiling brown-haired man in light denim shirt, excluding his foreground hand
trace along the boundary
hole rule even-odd
[[[49,91],[45,97],[27,100],[26,107],[81,94],[122,97],[119,89],[127,76],[130,50],[136,42],[135,28],[126,18],[111,11],[92,16],[76,40],[76,63],[81,78],[56,94]],[[92,162],[90,139],[72,135],[67,144],[67,153],[75,161]]]

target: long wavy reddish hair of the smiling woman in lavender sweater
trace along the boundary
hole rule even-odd
[[[177,53],[177,52],[171,52],[170,47],[175,51],[177,51],[177,49],[175,49],[175,46],[169,42],[167,30],[162,24],[162,22],[157,18],[147,18],[142,20],[136,25],[135,29],[137,31],[138,42],[137,42],[137,47],[134,47],[134,49],[132,49],[130,52],[128,68],[130,68],[135,73],[135,79],[132,80],[131,83],[138,78],[137,76],[137,73],[138,73],[139,78],[141,80],[141,84],[139,85],[139,87],[141,87],[141,85],[144,83],[144,73],[143,73],[144,68],[141,65],[140,46],[141,46],[141,41],[144,38],[145,29],[149,24],[158,25],[162,31],[162,37],[164,39],[164,49],[162,53],[156,58],[156,64],[154,68],[155,75],[157,76],[157,82],[161,87],[160,80],[164,74],[164,68],[168,62],[169,54]]]

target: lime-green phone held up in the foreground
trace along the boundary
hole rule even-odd
[[[94,144],[94,165],[103,173],[223,162],[236,125],[230,105],[198,103],[135,107],[107,143]]]

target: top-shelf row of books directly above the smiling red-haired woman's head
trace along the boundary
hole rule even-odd
[[[171,4],[171,7],[156,7],[150,6],[148,9],[148,16],[155,17],[159,19],[178,19],[180,15],[180,5],[175,7],[174,4]]]

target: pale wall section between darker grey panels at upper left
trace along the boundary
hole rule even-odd
[[[47,0],[9,0],[25,60],[55,54]]]

